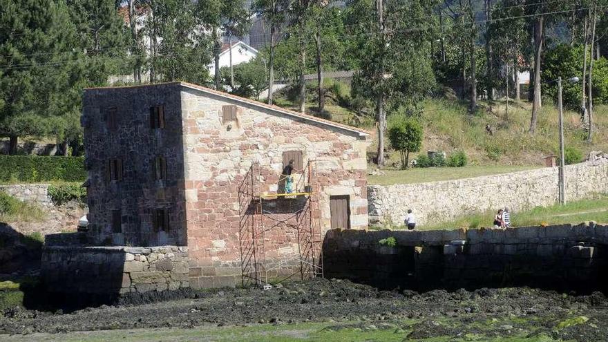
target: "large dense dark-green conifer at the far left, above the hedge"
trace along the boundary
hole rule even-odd
[[[24,135],[64,141],[87,71],[68,8],[50,0],[0,0],[0,8],[0,136],[10,138],[10,154]]]

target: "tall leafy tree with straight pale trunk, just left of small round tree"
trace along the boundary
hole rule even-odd
[[[379,165],[384,163],[387,99],[392,108],[416,104],[419,88],[413,85],[426,88],[435,83],[429,41],[434,37],[436,23],[428,20],[428,13],[436,4],[424,0],[390,1],[384,8],[381,0],[352,0],[347,7],[347,24],[352,22],[350,33],[354,37],[351,53],[361,66],[352,91],[376,102]],[[411,68],[412,61],[420,64],[415,70]],[[414,71],[410,73],[413,78],[403,77],[408,71]]]

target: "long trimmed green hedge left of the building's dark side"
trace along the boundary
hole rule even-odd
[[[0,181],[48,182],[86,180],[84,157],[0,155]]]

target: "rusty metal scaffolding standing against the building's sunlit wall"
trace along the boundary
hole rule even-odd
[[[300,175],[294,192],[262,191],[265,186],[260,165],[254,163],[238,188],[240,216],[240,255],[243,286],[267,285],[268,273],[291,269],[282,274],[283,280],[299,274],[302,279],[323,277],[321,225],[319,203],[314,191],[314,161],[309,160]],[[267,263],[267,235],[285,229],[292,231],[298,241],[298,254],[275,256]],[[273,252],[273,251],[269,251]]]

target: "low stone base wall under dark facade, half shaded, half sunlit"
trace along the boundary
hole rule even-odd
[[[44,247],[50,292],[122,295],[189,287],[187,247]]]

